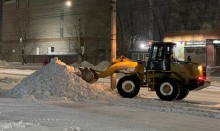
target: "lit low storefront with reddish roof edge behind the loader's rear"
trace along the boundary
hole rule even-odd
[[[201,31],[167,32],[164,41],[175,42],[175,56],[179,60],[202,63],[205,66],[220,66],[220,28]]]

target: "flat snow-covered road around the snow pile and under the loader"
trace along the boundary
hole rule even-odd
[[[13,88],[33,70],[0,70],[2,90]],[[10,74],[11,73],[11,74]],[[99,82],[108,83],[109,79]],[[219,131],[220,90],[190,92],[183,101],[161,101],[141,89],[134,99],[76,103],[0,98],[0,131]]]

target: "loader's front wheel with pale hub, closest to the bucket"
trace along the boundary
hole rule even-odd
[[[140,91],[140,79],[135,76],[124,76],[117,84],[118,93],[125,98],[133,98]]]

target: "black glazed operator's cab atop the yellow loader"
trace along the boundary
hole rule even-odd
[[[171,42],[153,42],[149,50],[147,70],[170,70],[174,45]]]

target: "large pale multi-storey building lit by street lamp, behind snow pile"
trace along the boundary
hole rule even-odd
[[[29,62],[78,54],[88,61],[109,58],[108,0],[4,0],[2,25],[6,61],[22,61],[23,55],[32,57]]]

